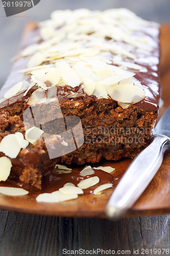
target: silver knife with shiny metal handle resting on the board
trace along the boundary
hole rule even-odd
[[[155,127],[150,144],[127,168],[106,206],[112,220],[121,218],[147,188],[161,166],[164,153],[170,149],[170,106]]]

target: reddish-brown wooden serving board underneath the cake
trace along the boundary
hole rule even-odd
[[[24,39],[28,32],[36,27],[35,23],[26,26]],[[170,104],[170,24],[163,24],[161,27],[161,82],[162,99],[164,105],[159,112],[159,117]],[[170,117],[169,117],[170,118]],[[120,177],[132,160],[124,159],[119,161],[102,161],[91,166],[110,165],[116,170],[114,177]],[[82,167],[79,166],[81,169]],[[32,214],[51,215],[60,217],[98,217],[106,218],[106,204],[117,184],[115,181],[113,188],[107,189],[100,196],[87,195],[79,196],[78,199],[62,203],[37,203],[35,194],[22,197],[10,197],[0,194],[0,208]],[[170,213],[170,152],[166,153],[154,179],[143,192],[126,217],[154,215]]]

